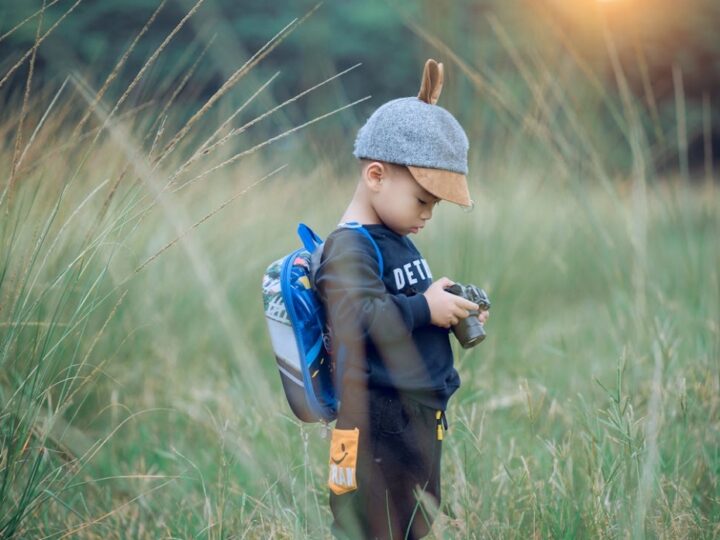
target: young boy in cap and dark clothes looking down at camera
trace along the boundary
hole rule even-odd
[[[472,204],[467,136],[435,105],[442,68],[428,60],[419,96],[387,102],[358,132],[361,177],[313,274],[341,377],[328,479],[339,538],[421,538],[440,504],[444,411],[460,385],[449,329],[478,309],[432,281],[408,238],[440,200]]]

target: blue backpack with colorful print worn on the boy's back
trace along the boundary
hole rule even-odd
[[[370,233],[356,221],[339,226],[356,229],[372,242],[382,279],[382,254]],[[297,233],[303,245],[274,261],[263,275],[265,320],[292,412],[303,422],[332,422],[340,401],[345,348],[340,344],[335,366],[332,329],[313,286],[324,241],[304,223],[298,225]]]

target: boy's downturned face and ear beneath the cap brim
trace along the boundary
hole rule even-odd
[[[418,233],[440,202],[401,165],[373,162],[365,169],[372,204],[382,222],[400,235]]]

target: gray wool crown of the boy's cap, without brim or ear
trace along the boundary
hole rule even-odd
[[[468,148],[465,131],[446,109],[404,97],[381,105],[368,118],[353,155],[467,174]]]

